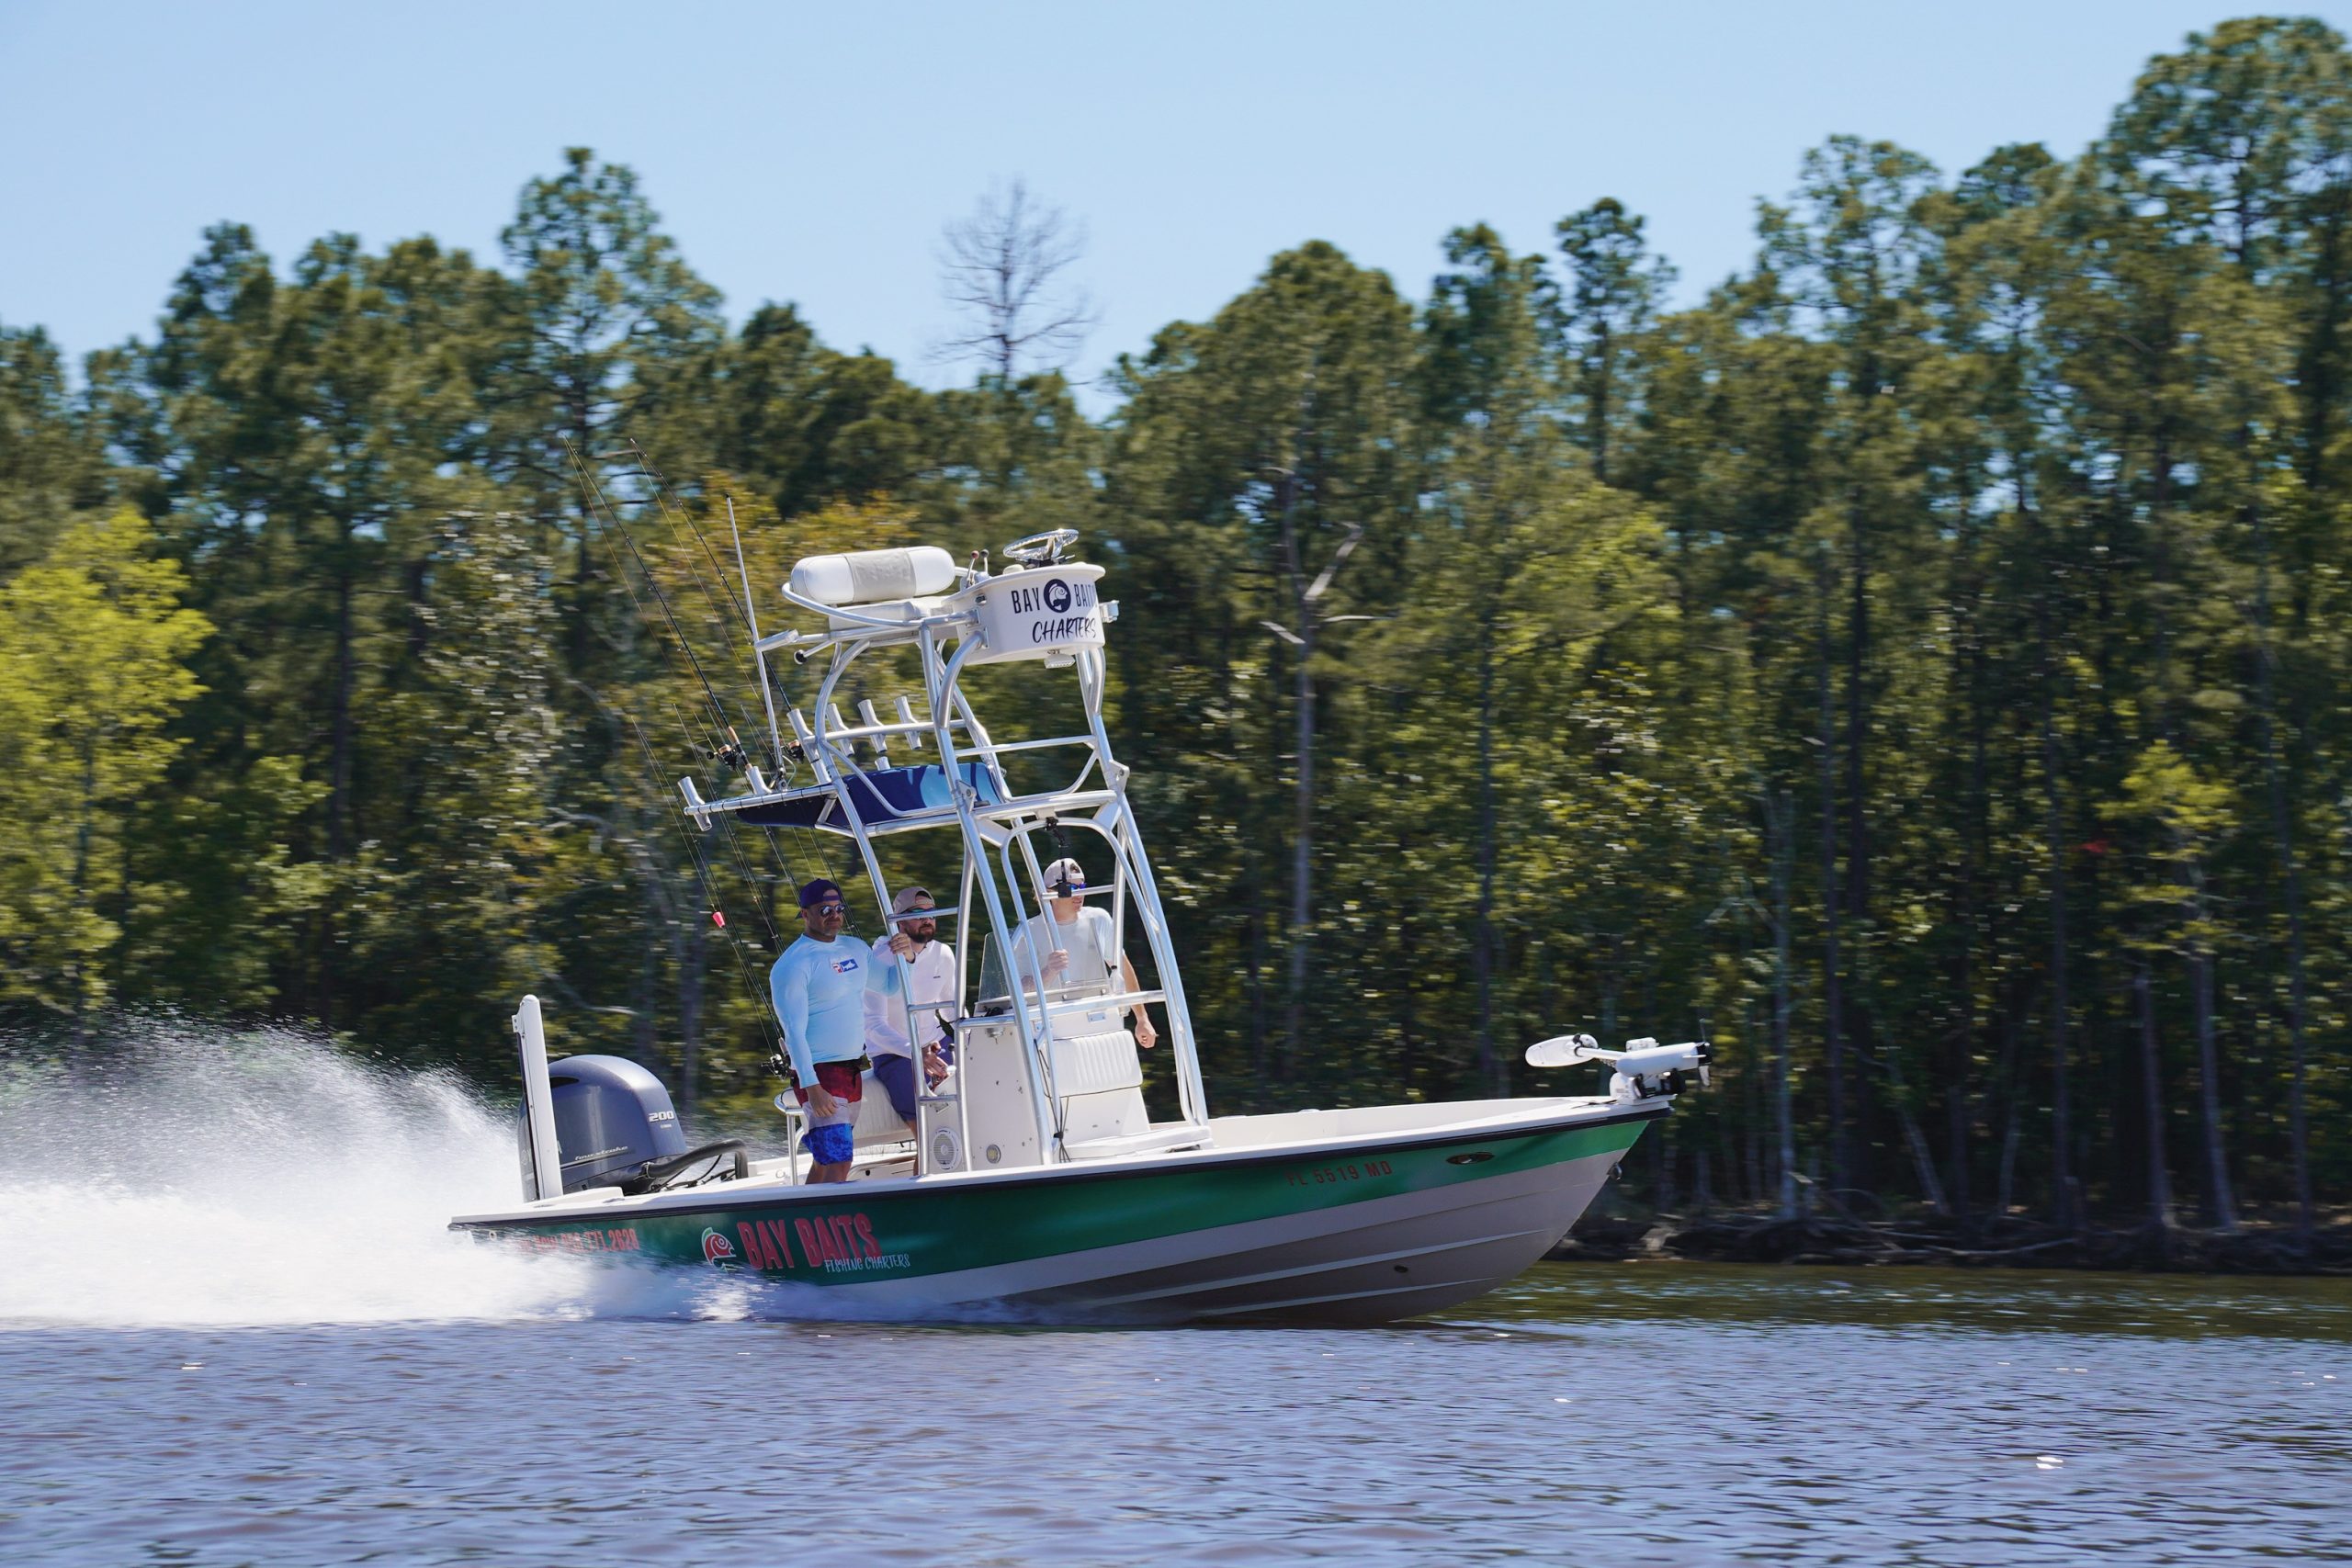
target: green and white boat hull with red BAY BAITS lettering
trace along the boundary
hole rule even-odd
[[[456,1220],[550,1253],[804,1286],[804,1316],[1388,1321],[1566,1234],[1665,1105],[1263,1150],[830,1187],[722,1182]],[[797,1295],[797,1291],[793,1293]]]

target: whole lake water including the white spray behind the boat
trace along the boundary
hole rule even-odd
[[[1378,1331],[809,1324],[442,1232],[449,1081],[0,1086],[5,1563],[2352,1554],[2352,1281],[1543,1265]]]

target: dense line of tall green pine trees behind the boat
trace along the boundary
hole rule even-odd
[[[746,976],[847,865],[677,818],[764,724],[713,538],[774,583],[1068,524],[1221,1110],[1703,1034],[1663,1204],[2307,1227],[2347,334],[2352,56],[2293,19],[2072,160],[1835,136],[1682,308],[1616,200],[1458,228],[1423,296],[1301,244],[1103,418],[1014,320],[938,393],[729,327],[588,150],[496,263],[223,223],[80,376],[0,324],[0,997],[19,1048],[139,1004],[499,1079],[539,990],[757,1103]]]

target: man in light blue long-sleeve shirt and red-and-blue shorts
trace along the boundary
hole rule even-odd
[[[767,992],[783,1025],[783,1048],[793,1058],[793,1093],[809,1112],[800,1145],[809,1152],[811,1182],[847,1182],[856,1138],[849,1126],[866,1093],[858,1063],[866,1056],[866,992],[898,990],[898,966],[875,964],[866,943],[844,943],[849,905],[835,882],[818,877],[800,889],[795,940],[767,973]],[[906,954],[915,943],[903,933],[889,950]]]

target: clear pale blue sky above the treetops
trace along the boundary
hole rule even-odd
[[[2251,9],[2251,7],[2249,7]],[[2352,2],[2305,7],[2347,26]],[[1519,249],[1616,195],[1684,296],[1745,266],[1823,136],[1962,169],[2070,155],[2218,2],[600,5],[0,0],[0,322],[148,334],[198,233],[482,256],[517,188],[633,165],[741,320],[797,301],[920,381],[941,226],[1025,176],[1087,221],[1094,374],[1331,240],[1421,296],[1446,228]]]

